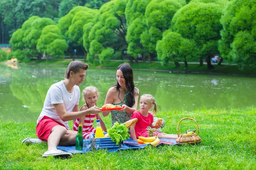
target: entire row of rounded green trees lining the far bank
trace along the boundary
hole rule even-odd
[[[0,40],[12,34],[21,60],[64,52],[74,59],[78,49],[84,60],[100,63],[122,57],[133,63],[142,55],[178,67],[197,59],[203,65],[206,57],[213,68],[210,58],[219,54],[242,67],[256,63],[255,6],[253,0],[2,0]]]

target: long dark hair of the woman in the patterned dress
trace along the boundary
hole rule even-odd
[[[135,94],[135,85],[134,85],[134,80],[133,80],[132,68],[128,63],[124,63],[124,64],[119,65],[116,68],[116,71],[117,70],[121,70],[122,74],[124,75],[125,87],[127,88],[127,93],[128,93],[126,104],[127,104],[127,106],[132,107],[135,104],[134,95],[140,95],[140,94]],[[119,91],[119,94],[120,94],[120,90],[119,90],[120,85],[117,80],[116,80],[116,84],[113,85],[113,87],[115,87]],[[118,97],[119,97],[119,94],[118,94]],[[119,99],[120,99],[120,97],[119,97]]]

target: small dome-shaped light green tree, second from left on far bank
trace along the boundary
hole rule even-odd
[[[64,36],[61,35],[58,26],[49,25],[44,27],[36,46],[40,53],[44,53],[47,59],[49,55],[54,58],[64,58],[64,51],[67,48],[67,42],[64,40]]]

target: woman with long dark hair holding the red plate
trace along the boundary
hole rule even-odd
[[[122,110],[111,111],[112,126],[115,122],[124,123],[131,119],[132,113],[137,110],[140,91],[134,85],[133,71],[128,63],[116,68],[116,84],[113,85],[106,95],[105,104],[124,106]],[[102,112],[108,116],[109,111]]]

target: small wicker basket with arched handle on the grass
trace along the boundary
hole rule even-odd
[[[179,134],[180,122],[182,122],[185,119],[193,120],[196,123],[196,125],[197,125],[197,133],[191,134],[191,135],[187,135],[185,133]],[[176,139],[176,142],[177,143],[187,143],[187,144],[197,144],[197,143],[200,143],[201,142],[201,138],[198,136],[199,126],[198,126],[198,123],[195,121],[195,119],[190,118],[190,117],[185,117],[185,118],[181,119],[180,122],[178,123],[178,127],[177,127],[178,138]]]

